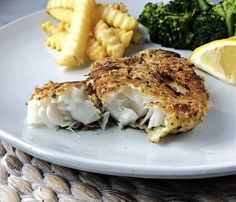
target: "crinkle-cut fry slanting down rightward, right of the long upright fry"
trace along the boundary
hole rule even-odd
[[[124,45],[120,42],[119,37],[114,32],[113,28],[100,20],[94,28],[96,39],[106,47],[109,56],[122,56],[125,50]]]

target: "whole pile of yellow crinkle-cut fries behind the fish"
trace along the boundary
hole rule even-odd
[[[43,22],[46,46],[59,52],[57,63],[81,66],[107,56],[122,56],[130,42],[139,43],[138,21],[123,3],[95,0],[49,0],[46,11],[59,22]]]

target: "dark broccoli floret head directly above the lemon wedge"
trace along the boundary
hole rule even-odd
[[[205,43],[228,37],[226,23],[223,17],[214,10],[203,11],[193,23],[194,38],[191,49]]]

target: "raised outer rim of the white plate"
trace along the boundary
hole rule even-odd
[[[8,27],[14,26],[14,24],[31,18],[32,16],[42,15],[44,10],[34,12],[32,14],[18,18],[10,23],[7,23],[0,27],[0,32]],[[102,160],[93,160],[89,158],[77,157],[75,155],[69,155],[67,153],[59,152],[53,149],[42,147],[35,147],[23,140],[12,136],[10,133],[3,131],[0,128],[0,138],[4,142],[11,144],[13,147],[20,149],[34,157],[46,160],[50,163],[66,166],[74,169],[86,170],[89,172],[96,172],[102,174],[111,174],[119,176],[130,176],[130,177],[143,177],[143,178],[162,178],[162,179],[194,179],[194,178],[205,178],[205,177],[217,177],[225,176],[230,174],[236,174],[236,162],[232,163],[219,163],[214,165],[200,165],[200,166],[183,166],[173,169],[173,166],[147,166],[141,164],[128,163],[114,163]],[[52,152],[53,151],[53,152]],[[60,156],[58,158],[57,156]],[[59,159],[73,159],[78,166],[74,166],[68,161],[64,161],[61,164]],[[80,165],[80,164],[83,164]],[[86,167],[86,168],[85,168]]]

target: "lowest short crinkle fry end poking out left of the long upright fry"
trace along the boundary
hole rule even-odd
[[[45,45],[50,48],[56,49],[57,51],[61,51],[66,35],[66,31],[54,33],[53,35],[48,36],[48,38],[45,40]]]

